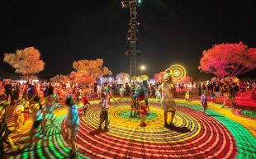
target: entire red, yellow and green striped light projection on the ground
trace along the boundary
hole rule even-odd
[[[108,131],[97,129],[100,110],[93,105],[87,115],[80,116],[78,158],[255,158],[254,119],[235,116],[215,104],[210,104],[203,115],[199,101],[178,101],[178,105],[171,129],[163,127],[163,110],[158,101],[150,103],[146,127],[139,126],[140,119],[130,118],[129,102],[111,105]],[[21,152],[10,152],[8,157],[69,157],[70,149],[61,131],[65,114],[66,110],[57,110],[57,124],[49,125],[47,138],[40,138]]]

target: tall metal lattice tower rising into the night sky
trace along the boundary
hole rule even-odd
[[[136,56],[139,51],[136,49],[137,38],[137,26],[140,24],[137,22],[136,8],[140,5],[141,0],[121,0],[121,6],[123,8],[130,8],[130,22],[129,30],[127,34],[127,40],[130,40],[130,49],[126,51],[126,55],[130,56],[130,79],[136,76]]]

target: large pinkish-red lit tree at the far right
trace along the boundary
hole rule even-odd
[[[255,50],[242,42],[216,44],[211,49],[203,51],[198,68],[220,78],[237,76],[256,68]]]

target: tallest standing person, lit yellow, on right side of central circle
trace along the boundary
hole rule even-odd
[[[177,110],[177,105],[175,101],[173,100],[173,83],[172,83],[172,75],[173,73],[171,70],[168,68],[165,71],[164,74],[164,82],[162,86],[160,87],[160,92],[162,93],[162,101],[161,105],[164,110],[164,127],[168,128],[167,124],[167,118],[168,118],[168,111],[172,111],[172,118],[171,118],[171,125],[173,123],[174,115]]]

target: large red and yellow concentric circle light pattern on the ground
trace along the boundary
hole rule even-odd
[[[197,110],[178,106],[171,129],[163,127],[163,110],[151,104],[146,127],[129,117],[130,105],[109,110],[108,131],[97,129],[100,110],[93,107],[80,117],[79,152],[102,158],[234,158],[235,140],[223,124]]]

